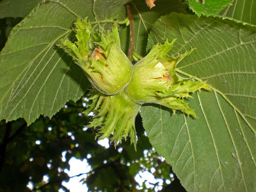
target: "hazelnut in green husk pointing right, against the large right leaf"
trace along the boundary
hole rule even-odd
[[[190,97],[189,93],[210,87],[206,82],[185,79],[175,72],[177,64],[194,49],[178,56],[168,55],[175,39],[169,43],[156,44],[146,57],[134,65],[131,83],[125,87],[129,97],[141,105],[157,103],[171,108],[174,113],[181,110],[187,115],[196,116],[194,110],[188,107],[183,98]]]

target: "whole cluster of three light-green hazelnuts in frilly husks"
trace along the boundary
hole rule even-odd
[[[75,23],[76,41],[61,40],[62,47],[85,72],[94,89],[90,91],[90,108],[94,113],[89,127],[100,127],[97,137],[108,138],[117,145],[129,136],[136,148],[135,117],[144,103],[169,107],[196,117],[184,98],[197,90],[210,90],[206,82],[182,78],[175,72],[177,64],[194,49],[178,56],[169,55],[172,42],[156,44],[132,65],[121,50],[117,23],[111,30],[93,29],[87,19]]]

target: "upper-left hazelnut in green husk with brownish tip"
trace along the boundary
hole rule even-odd
[[[123,90],[131,81],[133,66],[121,50],[117,23],[112,31],[93,29],[87,19],[78,18],[75,26],[77,41],[62,39],[60,47],[73,57],[98,91],[113,95]]]

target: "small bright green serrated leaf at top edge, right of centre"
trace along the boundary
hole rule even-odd
[[[231,4],[231,0],[187,0],[189,8],[193,10],[198,16],[201,15],[218,15],[219,12]]]

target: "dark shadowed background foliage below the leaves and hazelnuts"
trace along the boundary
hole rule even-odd
[[[81,115],[85,108],[82,100],[69,102],[53,118],[41,116],[28,127],[23,119],[8,123],[1,121],[0,191],[29,191],[26,187],[29,181],[34,183],[34,191],[65,189],[61,182],[69,180],[68,175],[63,172],[64,169],[69,169],[69,159],[84,159],[87,154],[92,156],[87,159],[92,170],[87,173],[87,179],[81,182],[86,182],[89,190],[94,190],[97,186],[98,190],[103,191],[140,191],[136,189],[138,183],[134,180],[135,174],[155,167],[155,178],[175,178],[170,185],[164,182],[163,191],[170,191],[170,188],[186,191],[175,176],[170,177],[171,167],[152,150],[139,115],[135,122],[138,133],[137,151],[129,141],[123,141],[117,146],[123,149],[119,153],[114,145],[110,144],[107,149],[99,145],[94,139],[94,130],[83,129],[89,120]],[[71,132],[74,140],[68,132]],[[41,141],[40,145],[35,143],[37,140]],[[144,154],[144,150],[148,150],[148,153]],[[63,151],[67,151],[65,162],[62,161]],[[49,176],[48,182],[43,181],[44,175]],[[155,185],[158,186],[159,183]],[[145,185],[141,191],[144,189]]]

